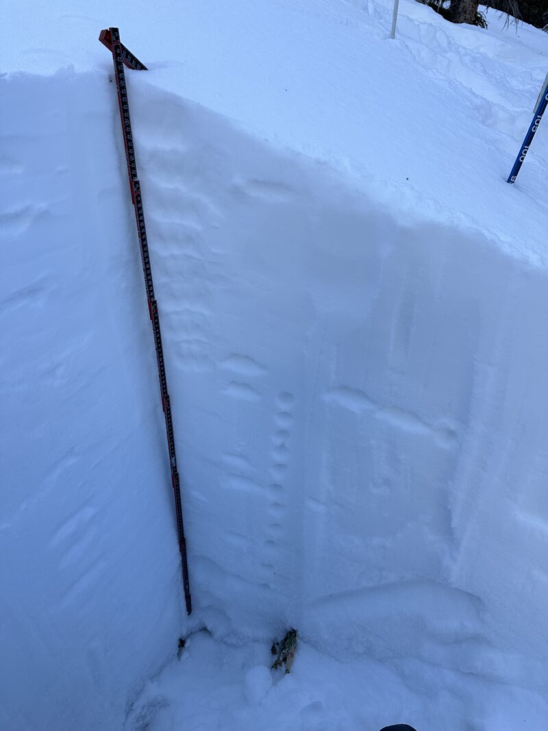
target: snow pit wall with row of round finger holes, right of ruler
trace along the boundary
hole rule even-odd
[[[199,616],[543,686],[546,271],[130,94]]]

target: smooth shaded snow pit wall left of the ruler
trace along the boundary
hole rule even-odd
[[[0,727],[115,729],[183,606],[115,97],[1,85]]]

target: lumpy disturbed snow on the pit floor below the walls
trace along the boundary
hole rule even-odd
[[[125,731],[418,731],[544,728],[548,704],[526,689],[409,658],[340,662],[300,641],[289,675],[265,643],[225,645],[207,632],[150,681]]]

